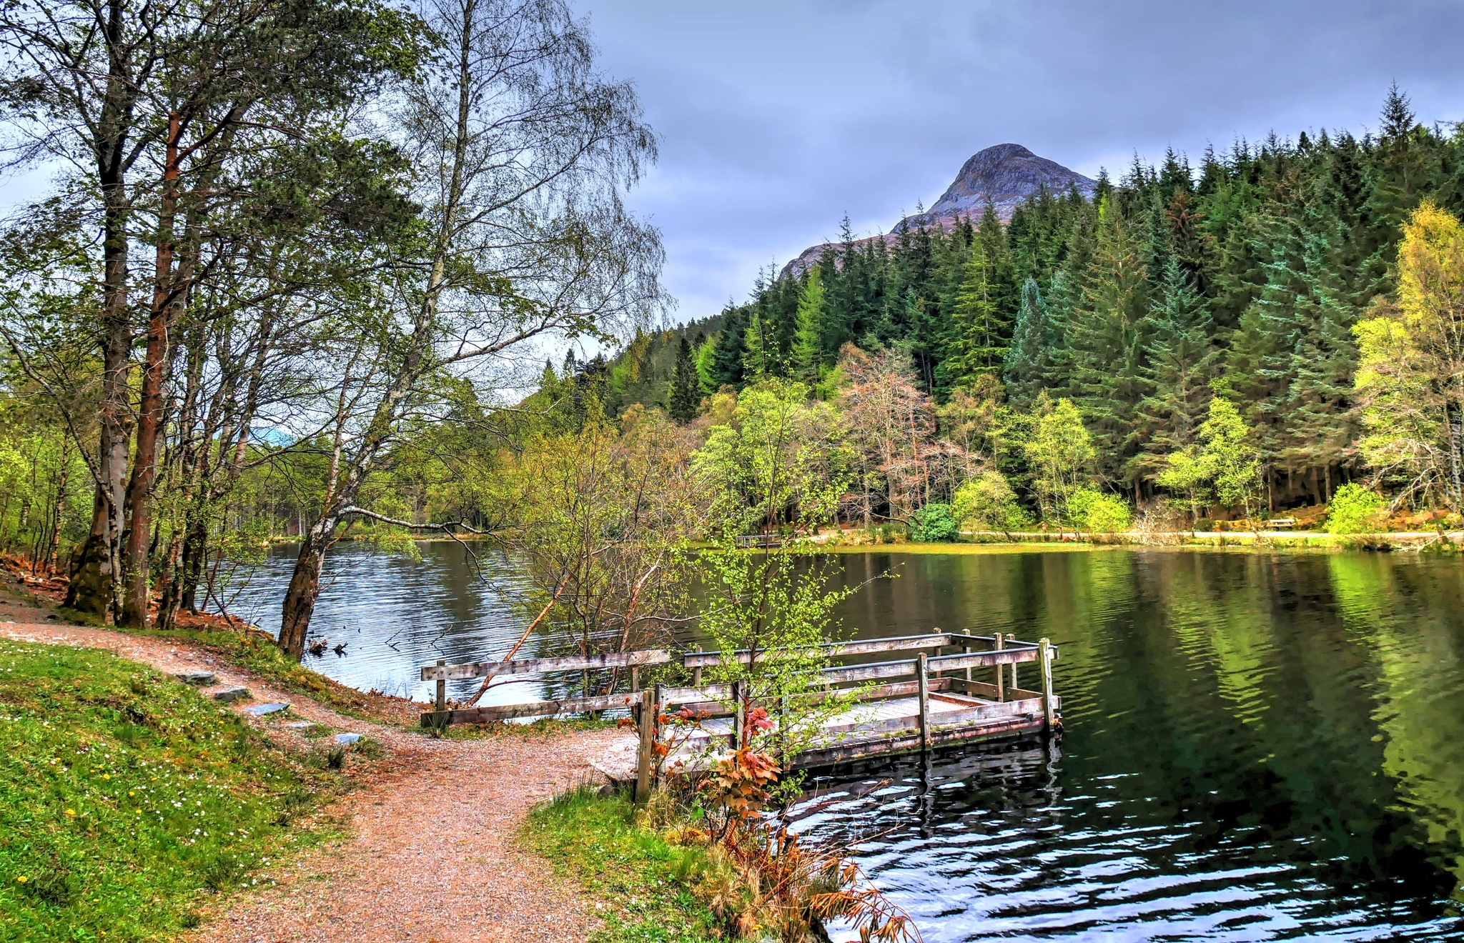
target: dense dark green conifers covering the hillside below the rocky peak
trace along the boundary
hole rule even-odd
[[[1218,395],[1259,447],[1271,507],[1378,478],[1455,504],[1457,430],[1429,459],[1442,474],[1382,443],[1369,455],[1357,389],[1354,327],[1394,292],[1403,225],[1424,200],[1464,209],[1464,133],[1419,124],[1394,89],[1362,137],[1272,135],[1198,165],[1136,158],[1092,200],[1044,193],[1004,227],[988,211],[949,231],[902,225],[890,246],[846,231],[817,269],[729,307],[691,358],[703,395],[764,376],[829,395],[854,344],[897,351],[947,411],[1028,414],[1067,398],[1099,480],[1130,500],[1164,493],[1170,456],[1199,443]],[[673,368],[659,366],[659,402]],[[1457,424],[1457,405],[1445,411]]]

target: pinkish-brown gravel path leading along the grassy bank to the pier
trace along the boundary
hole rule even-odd
[[[205,692],[247,687],[252,703],[287,702],[299,718],[370,734],[391,750],[395,772],[334,808],[353,838],[265,871],[275,885],[236,896],[198,943],[558,943],[599,925],[593,905],[514,836],[530,807],[593,773],[587,756],[613,731],[432,740],[343,716],[187,645],[67,626],[7,601],[0,636],[110,649],[168,674],[212,671],[218,683]]]

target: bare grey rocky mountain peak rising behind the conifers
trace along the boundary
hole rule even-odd
[[[1067,170],[1056,161],[1037,156],[1022,145],[996,145],[978,151],[962,164],[956,180],[946,187],[934,206],[922,213],[906,216],[884,235],[874,235],[858,243],[883,238],[886,244],[893,244],[895,234],[899,232],[902,224],[949,228],[962,216],[969,216],[972,222],[976,222],[985,212],[987,203],[991,203],[997,218],[1006,222],[1012,219],[1013,209],[1028,197],[1041,193],[1042,189],[1060,196],[1067,193],[1069,187],[1078,187],[1079,193],[1091,197],[1095,186],[1094,180]],[[823,243],[805,249],[783,268],[783,273],[802,272],[817,262],[830,246],[832,243]]]

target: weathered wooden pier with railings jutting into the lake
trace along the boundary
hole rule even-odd
[[[1061,725],[1061,702],[1053,690],[1051,662],[1057,646],[1047,639],[1019,642],[1013,636],[978,636],[940,632],[921,636],[834,642],[823,646],[830,659],[915,652],[899,661],[834,665],[820,673],[820,687],[855,689],[855,703],[832,718],[805,751],[789,762],[805,769],[862,760],[881,754],[931,750],[949,744],[1007,740],[1051,734]],[[931,654],[934,652],[934,654]],[[741,662],[748,652],[733,655]],[[637,718],[627,732],[596,762],[616,781],[634,781],[644,794],[654,775],[653,746],[668,731],[656,724],[660,713],[690,708],[700,719],[691,735],[678,737],[666,760],[688,766],[723,749],[735,749],[744,699],[735,684],[701,684],[703,668],[722,661],[720,652],[643,651],[612,655],[539,658],[509,662],[433,665],[422,670],[425,681],[438,681],[436,709],[422,715],[423,727],[505,721],[514,718],[628,709]],[[654,686],[640,690],[646,665],[679,662],[690,673],[687,687]],[[1022,687],[1017,667],[1037,664],[1035,687]],[[447,681],[507,674],[628,668],[630,690],[596,697],[540,700],[523,705],[448,709]],[[979,678],[979,680],[978,680]]]

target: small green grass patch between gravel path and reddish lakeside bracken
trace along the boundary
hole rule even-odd
[[[706,870],[701,848],[672,845],[635,825],[624,794],[575,789],[529,816],[524,842],[580,880],[605,930],[591,943],[704,943],[722,939],[717,920],[694,895]]]

